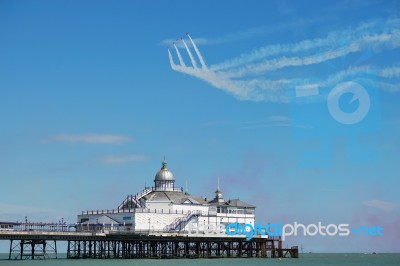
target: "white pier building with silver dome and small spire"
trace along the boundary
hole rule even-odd
[[[239,199],[225,200],[219,185],[211,199],[194,196],[175,185],[164,160],[154,186],[128,195],[112,210],[83,211],[77,231],[176,232],[231,223],[254,225],[255,206]]]

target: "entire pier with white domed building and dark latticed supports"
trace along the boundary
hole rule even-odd
[[[298,248],[282,248],[280,237],[254,233],[256,206],[195,196],[175,186],[164,160],[154,186],[128,195],[114,209],[83,211],[77,222],[0,222],[0,241],[10,241],[9,259],[52,259],[57,246],[68,259],[298,258]],[[246,239],[232,225],[252,232]],[[228,230],[228,231],[227,231]],[[227,233],[228,232],[228,233]],[[65,251],[64,251],[65,252]]]

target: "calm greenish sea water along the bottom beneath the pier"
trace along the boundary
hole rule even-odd
[[[400,265],[400,254],[304,254],[299,259],[179,259],[179,260],[40,260],[40,261],[9,261],[4,260],[7,258],[6,254],[0,255],[0,265],[55,265],[55,266],[79,266],[79,265],[135,265],[135,266],[258,266],[258,265],[307,265],[307,266],[321,266],[321,265],[337,265],[337,266],[353,266],[353,265]]]

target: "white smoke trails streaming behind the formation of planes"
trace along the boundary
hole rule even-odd
[[[400,66],[398,64],[382,68],[382,66],[359,65],[356,62],[355,65],[349,65],[343,71],[336,70],[334,74],[322,72],[324,78],[317,82],[308,76],[300,78],[287,76],[288,68],[299,69],[299,73],[302,74],[304,67],[304,75],[307,75],[309,73],[308,66],[337,60],[349,54],[355,56],[364,50],[388,52],[399,49],[399,23],[400,18],[389,19],[383,23],[380,21],[372,24],[363,23],[357,28],[328,33],[325,38],[306,39],[292,44],[268,45],[219,65],[207,66],[199,48],[188,34],[190,44],[193,45],[196,54],[191,53],[191,48],[189,49],[184,39],[182,39],[182,43],[191,63],[184,65],[183,59],[183,63],[181,62],[182,55],[179,53],[181,43],[174,44],[179,58],[177,64],[174,63],[174,58],[169,50],[168,52],[174,71],[208,82],[213,87],[222,89],[241,100],[287,103],[290,100],[287,88],[296,88],[312,82],[321,88],[321,97],[317,100],[323,101],[326,100],[325,96],[330,88],[343,80],[359,77],[359,74],[365,73],[365,71],[374,73],[379,89],[400,93],[398,82]],[[340,39],[346,40],[346,43],[342,44],[346,45],[345,50],[338,43]],[[170,49],[172,50],[172,48]],[[265,73],[271,73],[271,75],[264,77]],[[366,79],[365,82],[368,80]]]

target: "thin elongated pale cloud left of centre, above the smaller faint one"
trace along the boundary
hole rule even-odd
[[[132,142],[133,139],[127,136],[121,135],[111,135],[111,134],[58,134],[51,136],[45,140],[43,143],[49,142],[83,142],[83,143],[100,143],[100,144],[123,144],[127,142]]]

